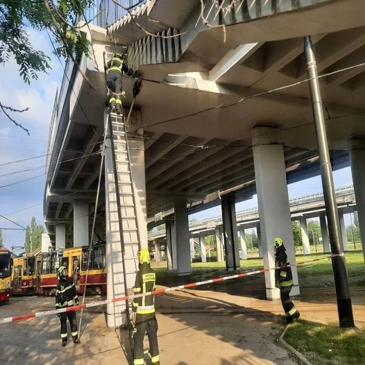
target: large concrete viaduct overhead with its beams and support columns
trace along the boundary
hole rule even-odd
[[[44,221],[56,247],[85,246],[97,212],[96,232],[107,240],[108,278],[114,280],[108,281],[108,298],[115,295],[115,280],[121,284],[122,270],[120,260],[112,262],[121,252],[111,238],[117,237],[117,228],[110,225],[115,215],[110,148],[95,206],[107,120],[103,51],[128,51],[128,65],[144,78],[128,134],[133,176],[138,177],[140,245],[148,245],[147,226],[173,210],[179,275],[191,272],[189,212],[219,204],[226,264],[231,270],[239,267],[235,203],[253,194],[264,266],[274,266],[271,241],[277,236],[286,242],[289,260],[296,262],[287,184],[319,174],[305,82],[307,35],[315,45],[319,74],[327,75],[321,89],[332,167],[352,169],[365,241],[365,71],[353,67],[364,62],[363,0],[239,0],[228,11],[211,0],[203,1],[203,9],[200,0],[146,0],[135,2],[133,19],[112,0],[96,3],[90,19],[98,17],[82,28],[90,40],[90,57],[83,55],[78,65],[67,60],[55,99]],[[132,83],[124,77],[126,112]],[[136,262],[137,246],[131,255],[130,262]],[[278,298],[273,272],[265,282],[266,297]],[[295,269],[294,283],[291,294],[298,294]],[[118,311],[108,306],[108,325],[121,323]]]

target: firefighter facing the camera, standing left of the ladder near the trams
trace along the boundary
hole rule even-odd
[[[78,305],[78,296],[76,287],[68,278],[66,266],[60,266],[58,269],[58,285],[56,289],[56,309],[74,307]],[[71,336],[74,343],[80,343],[78,339],[77,321],[75,312],[58,313],[61,321],[61,339],[62,346],[67,345],[67,318],[71,326]]]

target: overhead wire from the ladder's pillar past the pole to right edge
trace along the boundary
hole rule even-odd
[[[328,72],[327,74],[322,74],[320,76],[317,76],[317,78],[324,78],[324,77],[327,77],[327,76],[332,76],[334,74],[339,74],[339,73],[344,72],[344,71],[349,71],[350,69],[355,69],[357,67],[364,67],[364,66],[365,66],[365,62],[362,62],[362,63],[359,63],[357,65],[353,65],[353,66],[350,66],[350,67],[345,67],[343,69],[338,69],[336,71]],[[181,117],[176,117],[176,118],[166,119],[166,120],[163,120],[163,121],[158,121],[157,123],[144,125],[144,126],[141,126],[139,128],[148,128],[148,127],[153,127],[153,126],[159,126],[160,124],[169,123],[170,121],[178,121],[178,120],[189,118],[189,117],[195,117],[198,114],[202,114],[203,112],[209,112],[210,110],[230,108],[232,106],[238,105],[239,103],[242,103],[243,101],[246,101],[246,100],[249,100],[249,99],[254,99],[254,98],[264,96],[264,95],[267,95],[267,94],[272,94],[273,92],[278,92],[278,91],[281,91],[281,90],[289,89],[291,87],[295,87],[295,86],[301,85],[303,83],[307,83],[310,80],[312,80],[312,78],[305,78],[305,80],[300,80],[300,81],[297,81],[296,83],[291,83],[291,84],[288,84],[288,85],[275,87],[274,89],[267,90],[267,91],[264,91],[264,92],[259,92],[257,94],[253,94],[253,95],[250,95],[250,96],[244,96],[243,98],[241,98],[237,101],[233,101],[232,103],[222,103],[222,104],[219,104],[219,105],[212,106],[210,108],[205,108],[205,109],[202,109],[202,110],[198,110],[196,112],[192,112],[192,113],[189,113],[189,114],[182,115]],[[160,82],[160,83],[162,83],[162,82]],[[133,132],[136,132],[136,131],[137,131],[137,129],[133,130]]]

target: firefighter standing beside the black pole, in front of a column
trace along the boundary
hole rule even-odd
[[[275,248],[275,266],[289,265],[290,263],[282,239],[275,238],[273,240],[273,246]],[[276,287],[280,289],[280,299],[285,311],[285,321],[287,323],[294,322],[299,318],[300,314],[289,296],[291,287],[294,285],[291,267],[275,270],[275,281]]]

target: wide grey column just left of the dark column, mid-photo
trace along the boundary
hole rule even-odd
[[[189,216],[185,199],[175,201],[175,225],[178,275],[189,275],[192,273],[192,263],[190,262]]]

